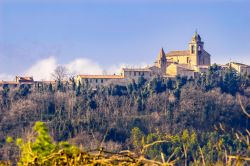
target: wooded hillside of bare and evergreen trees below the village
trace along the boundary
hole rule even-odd
[[[32,145],[32,154],[41,158],[63,151],[113,164],[117,158],[131,164],[249,164],[249,97],[249,76],[216,65],[195,79],[141,77],[127,86],[96,90],[60,81],[55,87],[5,86],[0,91],[0,160],[22,164],[28,160],[25,147]],[[49,132],[49,143],[36,143],[35,123],[43,134]]]

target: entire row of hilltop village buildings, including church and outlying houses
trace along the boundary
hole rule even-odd
[[[153,65],[145,68],[122,68],[120,75],[77,75],[76,83],[88,83],[91,87],[106,86],[109,84],[127,84],[132,80],[144,77],[147,80],[155,76],[164,78],[174,78],[176,76],[194,78],[198,75],[208,72],[211,66],[211,55],[204,49],[204,42],[201,36],[195,32],[187,50],[177,50],[165,53],[161,48],[158,57]],[[220,65],[221,68],[233,68],[239,74],[250,75],[250,66],[230,62],[226,65]],[[65,83],[70,81],[65,80]],[[0,86],[18,86],[18,85],[39,85],[55,84],[52,81],[35,81],[32,76],[16,76],[15,81],[0,81]]]

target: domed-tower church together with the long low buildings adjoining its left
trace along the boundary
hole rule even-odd
[[[156,62],[146,68],[123,68],[120,75],[78,75],[77,82],[88,83],[92,87],[100,85],[127,84],[139,77],[149,80],[157,75],[162,77],[195,77],[199,73],[207,72],[211,55],[204,50],[204,42],[195,32],[189,43],[189,49],[184,51],[170,51],[165,53],[163,48]]]

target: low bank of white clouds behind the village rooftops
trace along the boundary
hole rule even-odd
[[[94,62],[86,58],[78,58],[70,61],[67,64],[62,64],[65,66],[71,75],[78,74],[120,74],[121,68],[124,67],[146,67],[146,63],[141,63],[139,65],[129,65],[129,64],[114,64],[110,67],[104,69],[97,62]],[[58,66],[57,59],[53,56],[37,61],[34,65],[29,67],[21,75],[23,76],[33,76],[34,80],[51,80],[52,73]],[[14,80],[13,75],[0,73],[0,80]]]

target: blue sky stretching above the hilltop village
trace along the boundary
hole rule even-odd
[[[0,0],[0,79],[46,62],[77,62],[77,74],[152,64],[161,47],[187,49],[195,29],[212,62],[250,64],[248,0]]]

